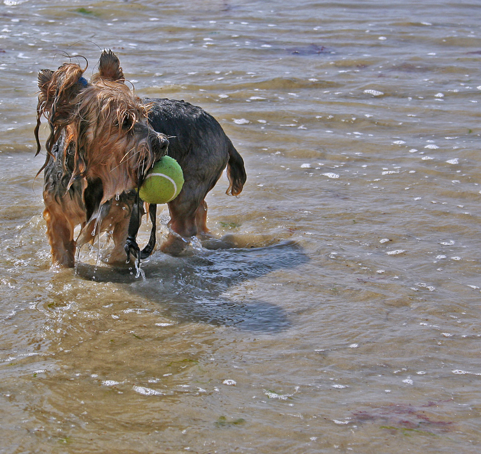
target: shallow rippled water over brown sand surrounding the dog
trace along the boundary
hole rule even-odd
[[[479,12],[4,0],[0,452],[477,452]],[[208,196],[219,240],[145,279],[96,248],[50,267],[36,73],[97,46],[246,161]]]

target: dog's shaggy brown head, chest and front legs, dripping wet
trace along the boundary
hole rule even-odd
[[[114,241],[112,261],[126,261],[130,191],[165,155],[168,145],[166,136],[150,127],[148,106],[125,84],[112,52],[102,53],[99,72],[90,83],[83,78],[84,71],[66,63],[38,75],[37,154],[42,117],[50,129],[40,169],[45,171],[43,216],[53,263],[64,266],[74,265],[76,246],[91,242],[102,231]],[[81,233],[75,241],[79,224]]]

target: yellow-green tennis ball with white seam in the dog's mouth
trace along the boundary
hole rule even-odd
[[[139,195],[144,202],[167,203],[178,196],[183,184],[181,166],[170,156],[163,156],[147,172]]]

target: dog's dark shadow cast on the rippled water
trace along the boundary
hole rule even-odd
[[[286,311],[246,294],[243,282],[309,261],[293,241],[258,248],[195,251],[191,256],[154,254],[142,264],[145,279],[135,271],[94,268],[80,263],[77,274],[98,282],[124,283],[133,294],[162,304],[179,322],[235,326],[278,332],[290,326]]]

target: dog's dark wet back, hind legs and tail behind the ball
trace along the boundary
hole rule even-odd
[[[182,237],[207,234],[205,196],[227,166],[227,192],[238,195],[246,182],[244,160],[217,120],[201,107],[185,101],[145,98],[152,128],[169,139],[167,154],[181,165],[185,183],[169,202],[170,228]],[[182,243],[172,236],[162,250],[178,253]]]

